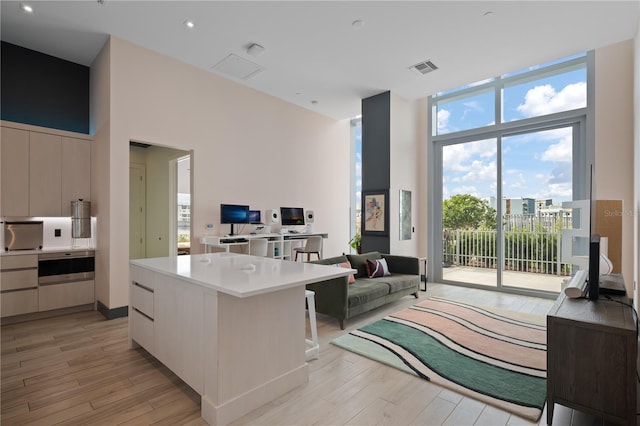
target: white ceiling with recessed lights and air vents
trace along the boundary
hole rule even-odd
[[[22,12],[24,3],[35,12]],[[112,34],[212,73],[233,53],[264,70],[247,80],[220,75],[336,119],[360,114],[362,98],[387,90],[418,99],[631,39],[640,17],[637,0],[3,0],[0,7],[3,41],[91,65]],[[195,28],[186,28],[188,19]],[[250,43],[265,51],[248,55]],[[409,70],[427,59],[439,69]]]

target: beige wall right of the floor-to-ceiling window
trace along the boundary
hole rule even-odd
[[[622,274],[633,294],[633,64],[634,43],[627,40],[595,52],[596,197],[622,200]]]

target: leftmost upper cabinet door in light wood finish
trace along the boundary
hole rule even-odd
[[[3,127],[0,139],[2,216],[29,216],[29,132]]]

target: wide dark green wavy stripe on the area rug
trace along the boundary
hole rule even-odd
[[[431,370],[461,386],[518,405],[544,407],[545,379],[474,360],[419,330],[396,322],[380,320],[360,330],[402,346]]]

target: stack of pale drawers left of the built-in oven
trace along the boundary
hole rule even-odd
[[[38,311],[38,256],[0,257],[0,316]]]

